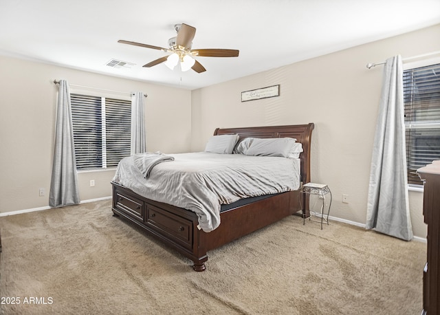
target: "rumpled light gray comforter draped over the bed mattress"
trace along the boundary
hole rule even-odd
[[[124,158],[113,182],[148,199],[192,210],[206,232],[219,226],[221,204],[300,186],[299,159],[207,152],[168,157],[174,160],[156,164],[148,178],[137,167],[139,155]]]

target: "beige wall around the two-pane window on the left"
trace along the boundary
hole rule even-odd
[[[190,148],[191,92],[135,80],[0,56],[0,212],[48,206],[58,86],[71,84],[115,91],[142,91],[149,151]],[[177,135],[177,136],[176,136]],[[80,199],[111,196],[109,171],[78,174]],[[90,187],[90,180],[95,186]],[[45,196],[39,197],[39,188]]]

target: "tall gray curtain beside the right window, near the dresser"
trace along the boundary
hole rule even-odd
[[[404,124],[401,57],[384,66],[366,213],[366,228],[409,241],[412,239]]]

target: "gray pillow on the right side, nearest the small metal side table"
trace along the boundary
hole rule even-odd
[[[282,156],[287,158],[295,142],[296,139],[294,138],[255,138],[248,151],[246,151],[246,155]]]

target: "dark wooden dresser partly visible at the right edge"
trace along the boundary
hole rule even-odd
[[[440,160],[417,170],[424,181],[423,217],[428,224],[427,262],[423,270],[423,312],[440,314]]]

